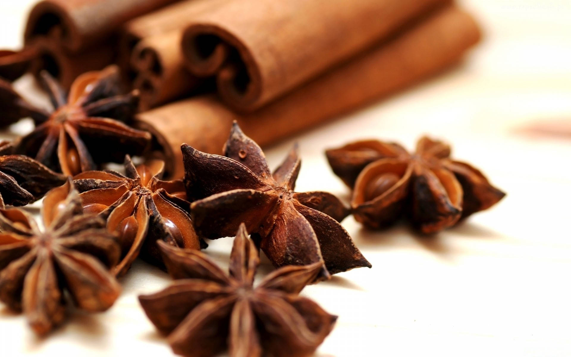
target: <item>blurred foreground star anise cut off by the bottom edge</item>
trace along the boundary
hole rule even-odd
[[[254,288],[259,256],[242,224],[230,256],[230,276],[200,251],[159,242],[175,280],[152,295],[139,296],[148,318],[176,354],[231,357],[313,354],[337,316],[297,294],[316,278],[320,263],[275,270]]]

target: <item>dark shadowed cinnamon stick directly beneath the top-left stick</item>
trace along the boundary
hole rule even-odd
[[[115,57],[113,46],[107,43],[90,47],[89,50],[77,54],[63,50],[61,45],[49,38],[35,39],[34,47],[37,55],[31,61],[30,72],[39,78],[39,73],[46,70],[58,79],[64,89],[69,89],[78,75],[100,70]]]

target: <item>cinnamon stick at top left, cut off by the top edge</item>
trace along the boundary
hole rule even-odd
[[[177,0],[43,0],[30,12],[25,42],[50,37],[74,53],[108,38],[124,22]]]

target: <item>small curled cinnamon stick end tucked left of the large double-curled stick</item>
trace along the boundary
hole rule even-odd
[[[184,67],[180,49],[182,31],[144,38],[133,50],[133,87],[140,91],[140,110],[148,110],[195,90],[201,79]]]

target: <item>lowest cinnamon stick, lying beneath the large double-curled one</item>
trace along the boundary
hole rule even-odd
[[[222,153],[232,121],[260,145],[308,129],[391,94],[459,61],[480,39],[473,18],[453,6],[250,114],[236,114],[214,95],[171,103],[138,115],[174,177],[183,174],[180,145]]]

